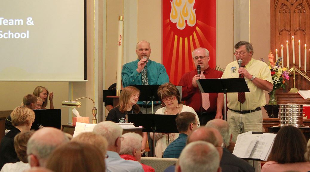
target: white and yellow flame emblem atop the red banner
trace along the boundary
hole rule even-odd
[[[195,0],[172,0],[170,3],[170,21],[176,23],[178,29],[184,29],[186,23],[191,27],[196,24]]]

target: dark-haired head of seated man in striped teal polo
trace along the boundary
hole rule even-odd
[[[192,112],[181,112],[175,118],[176,127],[179,133],[191,134],[198,127],[196,115]]]

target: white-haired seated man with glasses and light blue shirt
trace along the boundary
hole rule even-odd
[[[123,129],[112,121],[98,123],[94,133],[104,136],[108,141],[107,158],[105,159],[107,172],[143,172],[142,165],[137,161],[124,160],[118,153],[121,150]],[[102,160],[104,161],[104,160]]]

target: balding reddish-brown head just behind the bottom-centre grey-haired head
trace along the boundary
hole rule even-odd
[[[222,158],[224,144],[223,137],[218,130],[210,127],[199,127],[188,136],[187,143],[195,142],[198,140],[213,144],[219,151],[219,157]]]

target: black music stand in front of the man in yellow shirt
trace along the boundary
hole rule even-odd
[[[198,79],[201,93],[224,93],[224,120],[226,121],[226,93],[250,92],[244,78]]]

